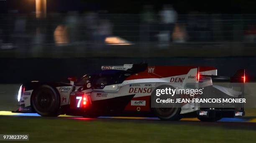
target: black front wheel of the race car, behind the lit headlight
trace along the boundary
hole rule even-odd
[[[41,116],[59,116],[60,96],[49,85],[42,85],[32,94],[33,109]]]

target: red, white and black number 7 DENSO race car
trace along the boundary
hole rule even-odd
[[[195,84],[196,88],[210,89],[211,93],[218,93],[218,96],[242,98],[243,88],[241,91],[235,91],[228,87],[215,86],[212,81],[229,79],[243,83],[244,70],[238,70],[231,78],[223,78],[217,76],[215,67],[124,64],[102,66],[99,72],[85,74],[79,80],[76,77],[68,79],[70,83],[31,81],[22,84],[18,91],[19,108],[13,112],[32,112],[41,116],[67,114],[93,118],[129,113],[133,116],[157,116],[161,120],[171,121],[179,120],[188,113],[194,113],[193,115],[201,121],[218,121],[223,117],[245,114],[243,104],[238,108],[225,108],[222,105],[208,108],[195,103],[168,108],[152,106],[152,93],[161,86],[191,89],[191,84]]]

